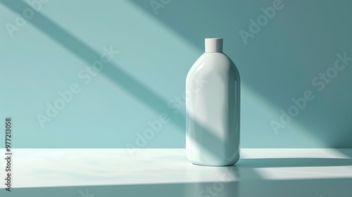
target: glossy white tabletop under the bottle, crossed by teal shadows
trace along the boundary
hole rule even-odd
[[[352,149],[242,148],[230,167],[193,165],[184,148],[12,153],[12,191],[1,184],[1,196],[352,196]],[[1,159],[1,183],[5,166]]]

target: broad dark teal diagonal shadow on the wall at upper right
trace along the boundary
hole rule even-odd
[[[277,131],[283,136],[279,139],[282,144],[291,143],[288,132],[294,132],[290,127],[296,122],[327,147],[351,148],[352,70],[348,67],[352,61],[341,58],[352,56],[352,25],[348,22],[352,17],[348,11],[351,1],[132,2],[199,49],[203,49],[204,37],[223,37],[224,51],[237,64],[241,80],[275,106],[274,121],[287,123],[281,122],[280,117],[296,105],[298,115]],[[272,13],[275,5],[279,9]],[[271,17],[266,23],[260,16],[265,12]],[[250,19],[258,23],[260,17],[264,25],[256,30],[255,25],[250,26]],[[241,30],[251,36],[242,39]],[[338,60],[339,67],[346,63],[342,70],[334,69]],[[306,100],[306,104],[300,99],[305,95],[311,100]],[[251,117],[242,117],[242,136],[249,139],[258,127],[249,126],[256,122]],[[272,130],[270,122],[263,127]],[[272,139],[276,140],[275,136]],[[245,141],[249,147],[259,144],[256,140]]]

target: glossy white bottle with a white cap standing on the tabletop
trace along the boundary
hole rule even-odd
[[[222,39],[208,38],[205,45],[186,80],[187,158],[196,165],[233,165],[239,160],[239,71],[222,53]]]

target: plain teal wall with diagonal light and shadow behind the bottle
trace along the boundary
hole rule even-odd
[[[352,148],[352,61],[334,67],[352,57],[352,1],[0,3],[0,122],[13,118],[14,148],[183,148],[184,82],[205,37],[224,38],[241,74],[241,147]]]

